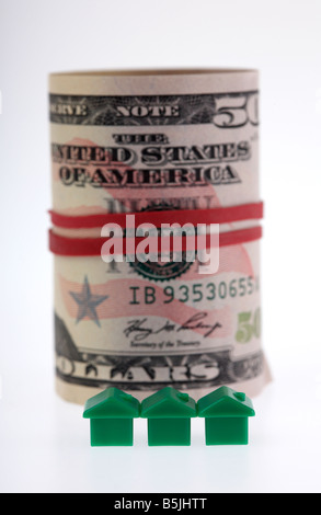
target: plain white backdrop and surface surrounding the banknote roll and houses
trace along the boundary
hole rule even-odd
[[[320,492],[321,2],[0,0],[0,491]],[[91,448],[54,390],[47,75],[261,70],[264,348],[250,445]]]

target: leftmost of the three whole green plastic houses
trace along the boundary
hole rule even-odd
[[[133,419],[139,414],[139,401],[118,388],[107,388],[92,397],[83,411],[83,417],[90,419],[91,445],[133,445]]]

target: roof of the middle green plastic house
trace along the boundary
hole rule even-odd
[[[196,402],[187,393],[167,387],[141,402],[144,419],[190,419],[196,416]]]

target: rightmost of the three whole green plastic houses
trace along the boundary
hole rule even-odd
[[[198,416],[205,417],[206,445],[247,445],[252,401],[245,393],[220,387],[197,402]]]

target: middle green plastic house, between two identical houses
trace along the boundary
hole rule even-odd
[[[187,393],[163,388],[141,402],[140,416],[148,419],[148,445],[191,445],[196,402]]]

